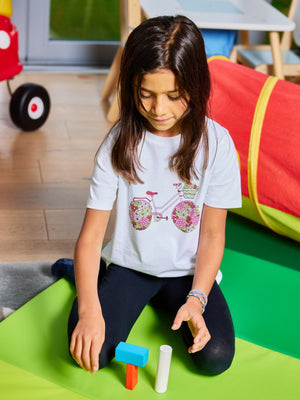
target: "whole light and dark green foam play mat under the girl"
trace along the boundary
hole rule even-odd
[[[139,382],[135,389],[125,388],[126,366],[115,360],[95,375],[86,373],[72,362],[68,354],[67,319],[75,293],[74,287],[62,279],[0,324],[1,396],[9,400],[50,397],[57,400],[127,397],[147,400],[157,396],[173,400],[200,394],[222,400],[300,398],[300,361],[296,358],[299,313],[289,319],[285,318],[289,314],[285,312],[283,318],[278,306],[283,302],[274,301],[274,288],[278,289],[279,285],[286,290],[290,283],[293,289],[289,290],[288,297],[296,305],[291,309],[291,304],[286,302],[285,308],[289,312],[299,309],[296,296],[299,273],[233,250],[225,251],[222,270],[222,289],[232,309],[238,336],[233,364],[223,374],[216,377],[196,374],[179,333],[172,332],[169,324],[159,319],[149,306],[128,339],[130,343],[149,348],[149,361],[139,369]],[[271,277],[268,276],[270,273]],[[271,309],[274,310],[271,312]],[[293,330],[295,334],[290,334]],[[281,336],[285,339],[281,340]],[[289,342],[288,347],[285,342]],[[173,347],[169,386],[165,394],[154,391],[161,344]]]

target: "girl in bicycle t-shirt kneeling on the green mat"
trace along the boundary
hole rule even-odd
[[[70,352],[87,371],[103,368],[151,302],[182,330],[199,372],[221,373],[234,330],[216,276],[227,208],[241,193],[232,140],[207,118],[199,29],[182,16],[143,22],[124,48],[119,88],[120,119],[98,151],[76,244]]]

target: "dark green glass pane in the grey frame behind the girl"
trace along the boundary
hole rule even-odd
[[[120,0],[51,0],[51,40],[120,40]]]

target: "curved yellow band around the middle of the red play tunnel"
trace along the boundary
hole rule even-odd
[[[271,224],[270,221],[266,218],[258,202],[258,196],[257,196],[257,166],[258,166],[261,132],[268,102],[277,81],[278,78],[274,76],[270,76],[266,80],[256,104],[252,127],[251,127],[250,142],[249,142],[248,190],[249,190],[249,198],[257,214],[270,229],[272,229],[277,233],[280,233],[274,226],[274,224]]]

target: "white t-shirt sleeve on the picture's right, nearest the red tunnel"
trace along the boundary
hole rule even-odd
[[[239,162],[233,140],[226,129],[216,138],[211,168],[204,203],[215,208],[241,207]]]

